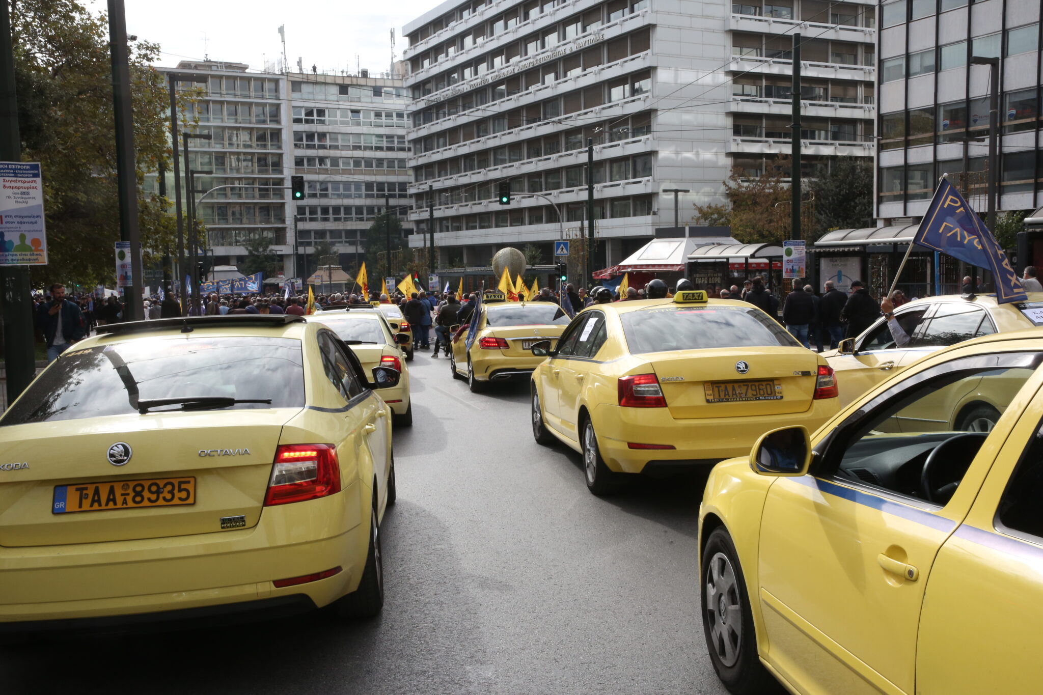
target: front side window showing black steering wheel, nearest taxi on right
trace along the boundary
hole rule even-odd
[[[900,381],[836,433],[826,466],[840,479],[944,504],[1040,358],[965,357]]]

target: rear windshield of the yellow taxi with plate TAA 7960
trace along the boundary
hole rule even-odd
[[[785,328],[752,306],[665,306],[627,312],[620,319],[633,354],[800,345]]]

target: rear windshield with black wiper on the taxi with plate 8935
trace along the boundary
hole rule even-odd
[[[128,415],[138,413],[139,401],[199,396],[271,399],[270,405],[222,409],[304,407],[300,341],[195,333],[73,346],[29,386],[0,426]]]

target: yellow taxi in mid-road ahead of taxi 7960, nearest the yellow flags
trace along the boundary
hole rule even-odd
[[[553,346],[568,325],[568,315],[554,302],[508,302],[502,293],[487,293],[476,311],[478,326],[453,341],[450,369],[466,378],[474,392],[490,381],[528,378],[542,357],[531,348],[540,341]]]

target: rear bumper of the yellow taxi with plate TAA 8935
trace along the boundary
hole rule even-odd
[[[0,548],[0,624],[205,612],[288,597],[326,605],[362,577],[369,510],[363,513],[361,497],[368,494],[355,481],[330,497],[266,507],[253,528],[242,530]],[[334,567],[342,571],[326,579],[272,584]]]

